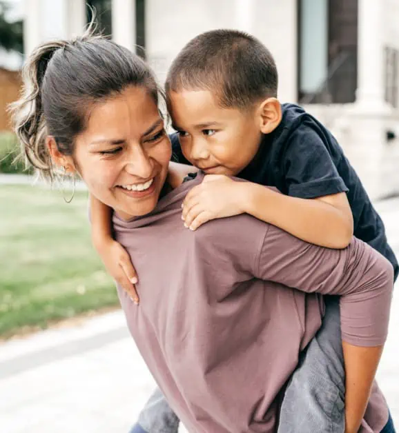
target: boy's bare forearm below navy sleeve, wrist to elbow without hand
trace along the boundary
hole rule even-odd
[[[240,183],[244,212],[286,232],[327,248],[346,248],[353,235],[353,217],[347,194],[300,199],[256,183]]]

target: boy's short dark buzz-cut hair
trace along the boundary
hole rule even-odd
[[[211,30],[191,39],[166,78],[171,90],[209,90],[223,108],[248,108],[277,97],[278,72],[271,52],[238,30]]]

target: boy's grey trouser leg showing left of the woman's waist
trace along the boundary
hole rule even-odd
[[[164,394],[157,388],[144,409],[139,414],[139,421],[133,425],[130,433],[177,433],[179,419],[169,407]]]

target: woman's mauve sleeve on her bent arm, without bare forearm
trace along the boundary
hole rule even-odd
[[[393,270],[366,243],[353,238],[348,248],[331,250],[269,225],[254,273],[303,292],[341,295],[342,339],[360,346],[385,343]]]

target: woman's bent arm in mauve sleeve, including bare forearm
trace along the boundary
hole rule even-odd
[[[345,250],[330,250],[270,225],[254,274],[304,292],[341,295],[346,433],[358,432],[387,337],[391,264],[357,239]]]

